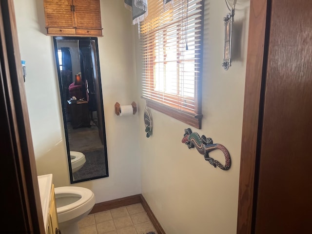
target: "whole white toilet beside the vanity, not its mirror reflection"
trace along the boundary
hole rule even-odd
[[[90,189],[74,186],[55,188],[55,199],[62,234],[79,234],[78,221],[87,216],[96,199]]]

